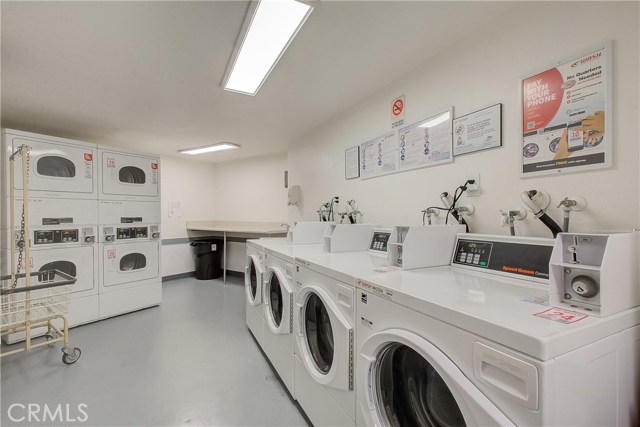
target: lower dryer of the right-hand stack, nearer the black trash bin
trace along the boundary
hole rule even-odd
[[[160,203],[100,201],[100,318],[162,302]]]

